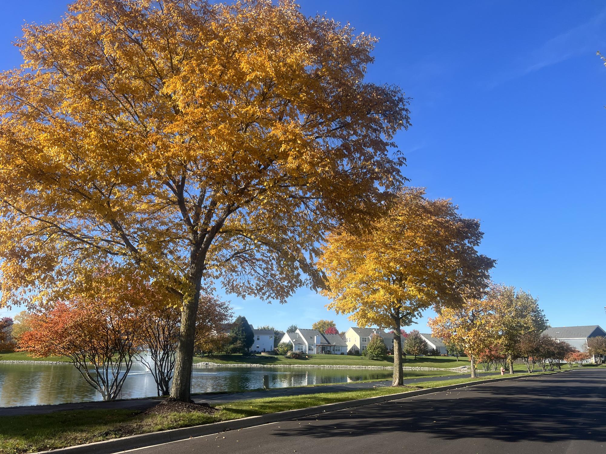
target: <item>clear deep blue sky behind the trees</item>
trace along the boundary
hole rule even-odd
[[[368,79],[413,98],[413,126],[397,137],[404,174],[482,221],[481,251],[498,259],[493,280],[539,297],[552,326],[606,327],[604,3],[299,3],[380,38]],[[6,2],[0,69],[20,63],[10,41],[24,19],[54,21],[65,5]],[[305,289],[284,305],[226,298],[255,326],[350,326]]]

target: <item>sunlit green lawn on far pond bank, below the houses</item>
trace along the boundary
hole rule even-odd
[[[194,363],[217,363],[217,364],[268,364],[275,366],[285,366],[289,364],[310,364],[319,366],[393,366],[393,357],[387,357],[382,360],[369,360],[365,357],[351,355],[307,355],[301,360],[290,360],[283,356],[261,356],[244,357],[242,355],[214,355],[212,357],[194,358]],[[408,367],[459,367],[469,366],[469,361],[465,357],[459,357],[459,361],[454,357],[407,357],[404,366]]]

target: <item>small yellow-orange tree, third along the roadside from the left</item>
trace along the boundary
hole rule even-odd
[[[460,306],[439,309],[430,318],[431,335],[460,346],[470,360],[471,378],[476,377],[476,358],[499,345],[491,300],[469,299]]]

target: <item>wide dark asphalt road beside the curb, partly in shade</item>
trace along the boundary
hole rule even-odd
[[[135,450],[181,453],[606,452],[606,369],[471,386]]]

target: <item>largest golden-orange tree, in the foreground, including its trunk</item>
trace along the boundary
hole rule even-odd
[[[179,400],[203,286],[318,285],[324,232],[402,183],[408,101],[365,82],[376,39],[290,1],[78,0],[23,33],[0,74],[1,303],[99,258],[144,271],[182,300]]]

